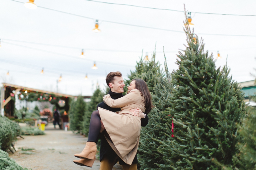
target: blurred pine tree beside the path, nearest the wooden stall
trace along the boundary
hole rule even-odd
[[[83,96],[78,96],[73,100],[70,107],[70,129],[80,132],[82,130],[83,118],[86,111],[86,103]]]

